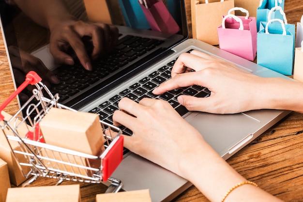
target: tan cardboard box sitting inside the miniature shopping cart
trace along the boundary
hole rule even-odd
[[[98,114],[52,108],[40,122],[45,143],[90,155],[104,151]]]

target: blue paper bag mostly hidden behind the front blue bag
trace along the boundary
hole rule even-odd
[[[268,14],[275,6],[280,6],[284,11],[284,0],[260,0],[259,7],[257,8],[257,31],[260,30],[260,22],[268,22]],[[274,11],[271,18],[283,20],[283,15],[281,12]]]

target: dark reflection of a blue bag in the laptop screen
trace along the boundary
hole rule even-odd
[[[119,0],[126,26],[135,29],[150,29],[150,25],[137,0]]]

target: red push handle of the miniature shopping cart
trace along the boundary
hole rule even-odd
[[[39,83],[42,80],[39,75],[34,72],[30,71],[27,73],[25,81],[17,88],[17,90],[12,93],[0,106],[0,121],[4,120],[4,116],[2,116],[1,111],[19,94],[21,91],[23,91],[29,84],[35,85],[36,83]]]

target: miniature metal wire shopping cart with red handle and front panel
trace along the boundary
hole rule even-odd
[[[106,192],[118,192],[122,183],[110,177],[122,160],[123,136],[120,128],[100,121],[106,139],[105,151],[100,156],[88,155],[74,150],[49,145],[40,133],[39,122],[51,108],[70,109],[58,103],[58,94],[53,95],[35,72],[29,72],[26,80],[0,106],[0,126],[24,177],[34,175],[23,184],[29,185],[39,176],[77,182],[110,182]],[[9,120],[1,111],[29,84],[33,95]],[[75,111],[75,110],[74,110]],[[21,115],[22,114],[22,115]],[[22,129],[22,130],[21,130]],[[20,131],[26,131],[26,134]]]

